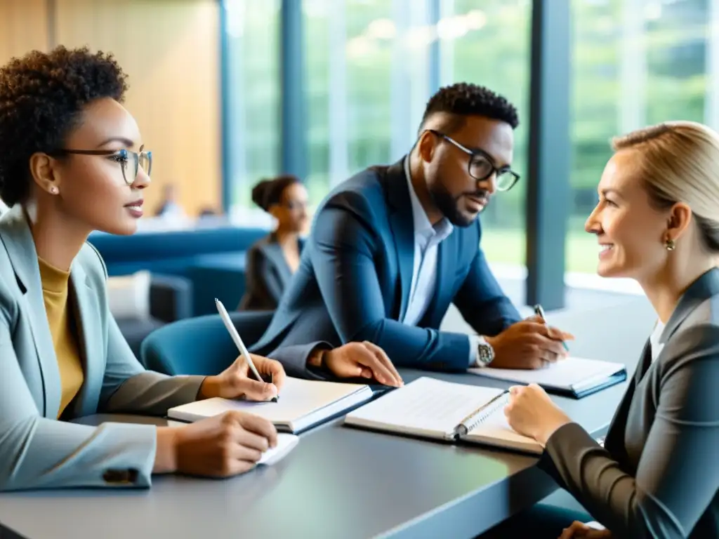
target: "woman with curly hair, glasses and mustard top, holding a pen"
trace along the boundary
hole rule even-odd
[[[0,198],[11,207],[0,217],[2,491],[149,487],[152,474],[175,471],[231,476],[276,443],[272,423],[247,413],[179,428],[68,423],[162,416],[209,397],[267,400],[285,377],[280,361],[260,356],[273,384],[250,379],[240,359],[210,377],[149,372],[120,333],[104,262],[86,240],[93,230],[132,234],[142,216],[152,154],[121,104],[126,90],[114,58],[86,48],[33,51],[0,68]],[[304,365],[313,354],[383,361],[362,344],[275,359]]]

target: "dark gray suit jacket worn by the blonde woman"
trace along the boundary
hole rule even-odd
[[[682,296],[644,356],[602,448],[576,423],[540,466],[613,538],[719,537],[719,270]]]

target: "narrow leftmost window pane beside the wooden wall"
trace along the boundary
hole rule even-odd
[[[226,170],[234,218],[255,222],[252,185],[280,168],[279,0],[225,0]],[[188,76],[192,76],[188,66]]]

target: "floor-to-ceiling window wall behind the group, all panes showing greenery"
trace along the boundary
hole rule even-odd
[[[411,148],[438,86],[480,83],[516,104],[523,180],[482,216],[491,262],[523,266],[532,0],[298,0],[311,202]],[[572,171],[566,270],[594,273],[583,231],[610,138],[668,119],[719,126],[719,0],[569,0]],[[280,0],[226,0],[232,206],[280,172]],[[542,201],[551,204],[551,200]],[[244,213],[247,213],[246,211]],[[561,239],[557,239],[561,241]]]

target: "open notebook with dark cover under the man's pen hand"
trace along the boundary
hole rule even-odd
[[[469,369],[469,372],[516,384],[539,384],[547,392],[575,399],[591,395],[605,387],[623,382],[627,378],[626,368],[622,364],[581,357],[562,359],[549,364],[544,369],[482,367]]]

